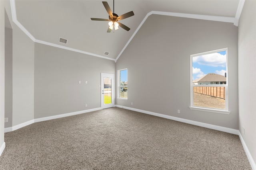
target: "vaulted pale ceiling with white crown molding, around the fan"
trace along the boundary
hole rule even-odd
[[[113,12],[113,0],[107,0]],[[115,0],[114,13],[133,11],[120,22],[130,27],[107,33],[108,21],[101,0],[11,0],[14,22],[35,42],[70,49],[96,57],[118,59],[126,45],[150,14],[183,16],[234,22],[241,11],[239,0]],[[16,16],[15,16],[16,12]],[[159,29],[156,25],[156,29]],[[68,39],[67,44],[59,38]],[[108,51],[109,55],[104,55]]]

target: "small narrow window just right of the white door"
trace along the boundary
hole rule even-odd
[[[128,79],[127,79],[127,68],[118,70],[118,98],[127,99],[128,93]]]

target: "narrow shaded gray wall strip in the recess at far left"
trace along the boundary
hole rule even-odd
[[[5,27],[5,94],[4,117],[8,122],[4,127],[12,127],[12,29]]]

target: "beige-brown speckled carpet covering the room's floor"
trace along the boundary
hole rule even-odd
[[[122,108],[5,133],[0,170],[250,170],[238,135]]]

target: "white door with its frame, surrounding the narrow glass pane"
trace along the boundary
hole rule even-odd
[[[104,104],[104,77],[107,77],[107,76],[110,76],[112,79],[111,79],[111,104]],[[100,88],[100,103],[101,103],[101,109],[106,109],[106,108],[109,108],[109,107],[114,107],[114,98],[115,98],[115,84],[114,84],[114,74],[108,74],[108,73],[101,73],[101,76],[100,76],[100,80],[101,80],[101,88]]]

